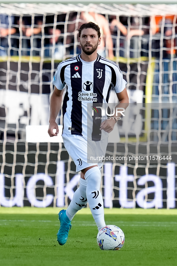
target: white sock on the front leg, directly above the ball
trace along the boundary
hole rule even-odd
[[[103,228],[106,224],[104,219],[103,197],[100,192],[101,172],[99,168],[97,166],[90,168],[85,173],[85,180],[87,181],[87,201],[93,219],[95,220],[98,229]]]

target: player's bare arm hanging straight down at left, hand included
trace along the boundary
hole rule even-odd
[[[59,90],[54,87],[54,91],[52,92],[52,96],[50,98],[50,118],[49,118],[49,129],[48,133],[50,137],[57,136],[59,129],[58,125],[55,122],[57,115],[61,108],[63,89]],[[56,133],[53,132],[53,129],[56,129]]]

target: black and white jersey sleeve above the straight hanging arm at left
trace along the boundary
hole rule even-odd
[[[59,90],[64,89],[66,83],[64,80],[64,69],[62,64],[60,63],[56,69],[55,75],[52,80],[52,84]]]

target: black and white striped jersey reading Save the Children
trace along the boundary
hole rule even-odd
[[[126,81],[114,62],[99,55],[95,61],[85,62],[78,55],[58,65],[52,84],[59,90],[66,86],[63,100],[64,133],[81,135],[95,141],[107,137],[107,132],[99,130],[100,124],[96,129],[92,126],[88,128],[87,104],[106,104],[111,88],[116,93],[125,88]]]

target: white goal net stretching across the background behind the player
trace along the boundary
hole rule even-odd
[[[72,199],[80,174],[62,143],[62,113],[60,136],[47,134],[49,97],[59,62],[81,52],[76,29],[92,21],[102,34],[98,53],[119,65],[130,99],[109,137],[104,206],[176,208],[177,5],[0,8],[0,206]]]

